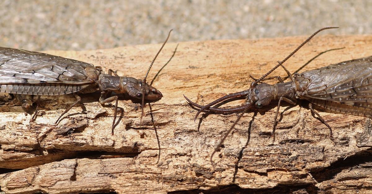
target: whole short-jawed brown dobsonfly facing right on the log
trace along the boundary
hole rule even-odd
[[[111,92],[116,94],[127,93],[133,98],[142,99],[140,123],[144,113],[144,102],[156,102],[163,97],[160,91],[146,83],[146,78],[156,57],[169,39],[171,31],[169,31],[167,39],[155,55],[143,80],[118,76],[112,69],[109,69],[108,74],[105,74],[99,66],[94,67],[90,63],[78,60],[0,47],[0,92],[15,94],[25,109],[32,106],[32,95],[38,95],[38,105],[30,120],[30,124],[38,111],[41,95],[65,95],[72,93],[77,101],[65,109],[55,121],[55,124],[57,124],[64,114],[81,102],[81,97],[78,96],[79,93],[99,91],[101,92],[99,98],[101,104],[115,101],[112,122],[113,135],[118,109],[118,95],[109,96]]]

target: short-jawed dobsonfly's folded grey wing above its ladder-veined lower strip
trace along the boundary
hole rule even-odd
[[[60,56],[0,47],[0,84],[84,84],[92,64]]]

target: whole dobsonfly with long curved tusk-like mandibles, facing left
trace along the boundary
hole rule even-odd
[[[298,99],[305,99],[309,101],[309,109],[318,116],[330,129],[330,137],[332,138],[332,129],[324,121],[324,119],[312,108],[312,104],[321,106],[332,111],[337,111],[346,114],[371,116],[372,115],[372,56],[348,60],[333,65],[325,66],[323,68],[309,70],[303,73],[292,74],[285,69],[282,64],[289,59],[295,52],[304,46],[315,34],[325,29],[332,29],[338,27],[325,27],[305,40],[298,46],[289,56],[281,62],[278,62],[273,69],[263,75],[260,79],[256,79],[251,83],[250,88],[225,95],[208,105],[202,106],[190,101],[185,95],[186,100],[197,108],[200,108],[195,116],[195,120],[201,112],[218,112],[218,113],[236,113],[241,112],[237,120],[232,124],[225,136],[221,139],[217,147],[215,147],[212,157],[218,148],[223,144],[225,138],[232,131],[234,126],[243,116],[243,114],[254,108],[262,108],[269,105],[272,100],[278,100],[278,107],[274,117],[273,125],[273,140],[275,141],[275,127],[282,101],[295,105]],[[276,68],[282,66],[288,73],[291,81],[283,82],[280,76],[266,78]],[[279,83],[270,85],[267,83],[260,83],[262,80],[278,79]],[[211,107],[230,98],[245,97],[246,101],[243,105],[235,108],[216,108]]]

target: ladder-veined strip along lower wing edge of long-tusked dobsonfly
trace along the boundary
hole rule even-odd
[[[371,116],[372,109],[364,108],[360,106],[348,105],[342,102],[327,101],[315,98],[306,98],[308,101],[332,111],[342,112],[346,114],[359,115],[359,116]]]

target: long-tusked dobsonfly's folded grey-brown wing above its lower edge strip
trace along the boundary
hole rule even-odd
[[[304,97],[372,107],[372,56],[301,73],[310,79]]]

